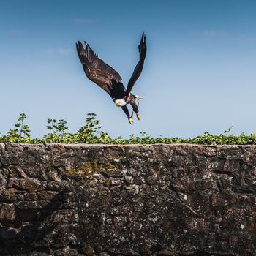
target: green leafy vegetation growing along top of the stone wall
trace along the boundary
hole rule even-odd
[[[48,119],[48,134],[42,138],[31,138],[29,125],[26,124],[26,114],[21,113],[14,129],[10,129],[7,135],[0,135],[0,143],[104,143],[104,144],[154,144],[154,143],[192,143],[202,145],[252,145],[256,144],[256,135],[233,135],[231,128],[221,134],[211,135],[205,132],[204,135],[195,138],[152,138],[146,132],[140,132],[140,136],[129,135],[129,139],[122,137],[110,138],[107,132],[101,130],[96,114],[88,113],[83,127],[78,132],[69,133],[67,121],[64,119]]]

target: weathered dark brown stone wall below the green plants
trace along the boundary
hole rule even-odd
[[[256,255],[256,147],[0,144],[0,255]]]

